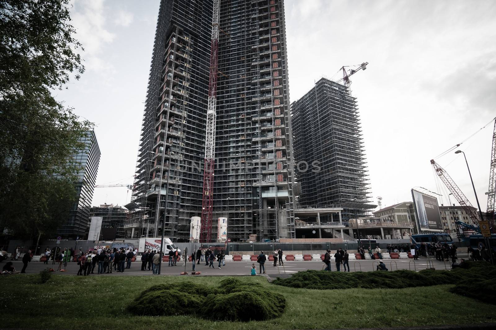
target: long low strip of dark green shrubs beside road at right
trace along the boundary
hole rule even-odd
[[[425,269],[373,272],[329,272],[307,270],[289,278],[277,278],[273,283],[292,288],[306,289],[348,289],[385,288],[401,289],[439,284],[454,284],[466,279],[488,279],[496,275],[496,267],[485,262],[463,262],[465,268],[452,270]]]

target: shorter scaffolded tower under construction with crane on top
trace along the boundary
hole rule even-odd
[[[291,104],[291,114],[298,205],[341,205],[343,220],[365,216],[375,205],[367,204],[362,129],[349,87],[322,78]]]

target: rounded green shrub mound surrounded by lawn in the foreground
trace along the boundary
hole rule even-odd
[[[193,282],[161,284],[144,290],[128,305],[136,315],[197,315],[219,321],[261,321],[280,317],[286,299],[260,284],[228,278],[219,287]]]

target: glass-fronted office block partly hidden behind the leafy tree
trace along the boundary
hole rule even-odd
[[[75,182],[76,200],[69,210],[67,220],[58,230],[59,236],[69,240],[82,240],[87,235],[91,201],[100,164],[101,153],[95,131],[87,131],[80,141],[84,142],[85,148],[73,156],[80,168]]]

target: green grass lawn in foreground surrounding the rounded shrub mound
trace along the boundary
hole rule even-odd
[[[329,329],[495,322],[495,306],[452,294],[452,285],[406,289],[311,290],[259,282],[286,297],[279,319],[213,322],[192,316],[140,317],[125,311],[139,293],[155,284],[179,281],[217,286],[225,277],[64,276],[39,284],[38,275],[1,278],[3,328],[29,329]]]

